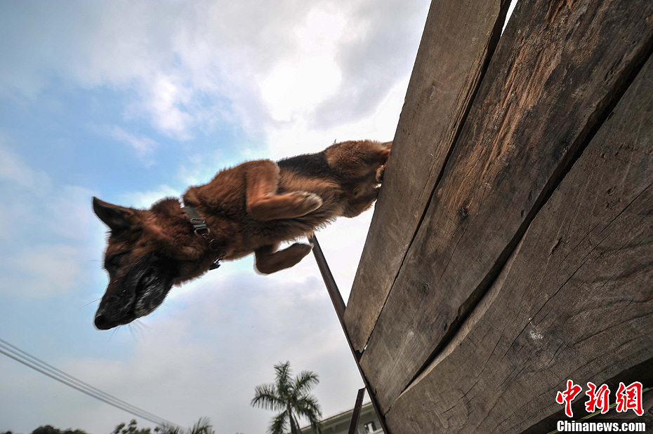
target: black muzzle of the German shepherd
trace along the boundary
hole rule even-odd
[[[126,325],[136,318],[152,313],[163,303],[176,275],[171,261],[154,258],[146,266],[134,267],[127,276],[112,280],[110,289],[100,301],[95,313],[95,327],[109,330]]]

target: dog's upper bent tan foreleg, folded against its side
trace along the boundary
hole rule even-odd
[[[322,206],[322,198],[308,191],[277,194],[279,166],[269,160],[250,161],[246,168],[247,211],[257,220],[292,219]]]

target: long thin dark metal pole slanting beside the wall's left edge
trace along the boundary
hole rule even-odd
[[[381,429],[383,430],[383,433],[390,434],[390,430],[388,430],[388,426],[385,425],[385,418],[383,417],[381,408],[378,407],[378,402],[376,402],[376,396],[374,395],[374,393],[372,393],[372,389],[369,386],[369,383],[367,382],[367,377],[365,377],[363,369],[360,367],[359,361],[361,358],[361,353],[359,353],[354,349],[354,347],[352,346],[351,339],[349,339],[347,327],[345,326],[345,301],[343,301],[343,296],[340,294],[340,290],[338,290],[338,285],[336,285],[336,280],[334,280],[334,275],[331,274],[331,270],[329,269],[329,264],[326,264],[326,258],[324,258],[324,253],[322,252],[322,248],[319,247],[319,243],[317,242],[317,238],[315,237],[315,234],[313,234],[308,238],[308,242],[311,243],[311,245],[313,246],[313,255],[315,256],[315,262],[317,262],[317,267],[319,268],[319,272],[322,274],[322,279],[324,279],[324,285],[326,285],[326,290],[329,292],[329,297],[331,297],[331,302],[334,304],[334,308],[336,309],[336,315],[338,316],[338,320],[340,321],[341,327],[343,327],[343,333],[345,334],[345,339],[347,339],[347,344],[349,345],[349,349],[352,352],[352,355],[354,356],[354,361],[356,362],[356,366],[358,367],[358,372],[360,372],[360,377],[363,379],[363,383],[365,384],[365,388],[367,389],[367,395],[369,395],[369,399],[372,402],[372,406],[374,407],[374,411],[376,412],[378,421],[381,423]]]

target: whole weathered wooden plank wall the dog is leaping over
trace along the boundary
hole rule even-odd
[[[653,1],[507,8],[433,0],[345,310],[393,433],[653,382]]]

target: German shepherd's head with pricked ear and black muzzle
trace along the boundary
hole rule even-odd
[[[109,285],[95,313],[98,329],[147,315],[164,301],[172,285],[208,269],[202,261],[204,240],[194,236],[176,199],[137,210],[93,198],[93,211],[110,229],[104,258]]]

